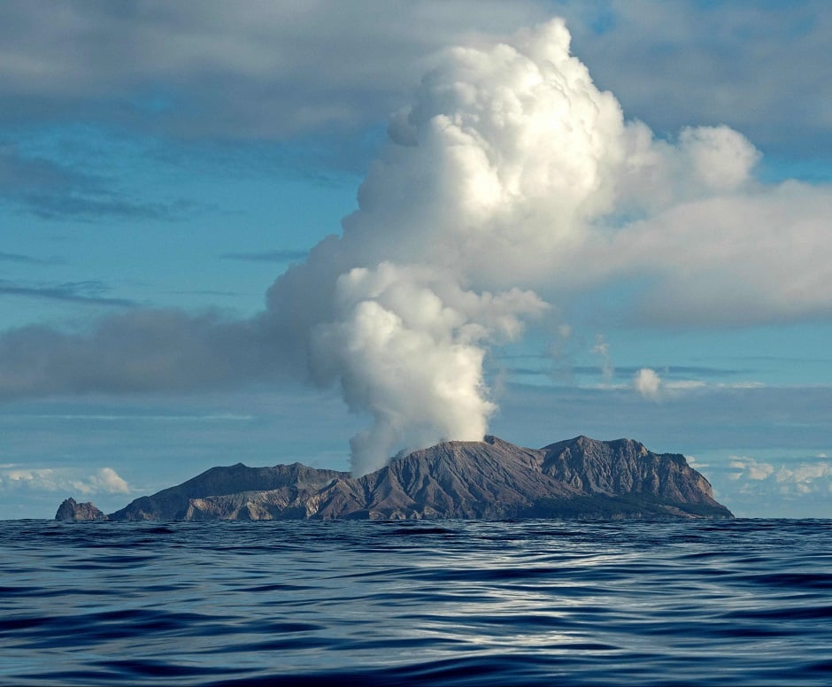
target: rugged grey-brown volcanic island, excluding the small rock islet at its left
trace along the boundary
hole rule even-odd
[[[62,506],[63,507],[63,506]],[[527,449],[447,442],[353,479],[300,463],[214,467],[112,520],[733,517],[677,454],[579,436]]]

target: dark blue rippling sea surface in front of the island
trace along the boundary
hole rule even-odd
[[[832,521],[0,521],[9,685],[830,685]]]

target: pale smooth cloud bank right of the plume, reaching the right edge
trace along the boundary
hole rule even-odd
[[[591,250],[609,258],[606,278],[649,280],[629,304],[634,321],[736,327],[828,318],[832,267],[820,256],[832,247],[829,212],[828,187],[751,186],[670,205]]]

